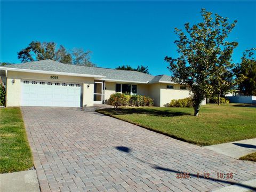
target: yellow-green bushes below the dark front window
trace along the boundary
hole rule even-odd
[[[108,104],[117,109],[119,106],[153,106],[153,99],[142,95],[128,95],[124,93],[111,94]]]

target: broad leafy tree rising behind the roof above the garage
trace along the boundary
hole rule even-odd
[[[54,42],[31,42],[25,49],[18,52],[18,59],[21,62],[38,61],[52,59],[66,64],[94,67],[90,61],[90,51],[84,52],[83,49],[74,48],[72,51]]]

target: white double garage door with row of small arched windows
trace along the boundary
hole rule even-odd
[[[21,106],[80,107],[81,84],[21,81]]]

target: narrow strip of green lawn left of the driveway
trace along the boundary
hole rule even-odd
[[[28,170],[33,157],[20,108],[1,108],[0,117],[0,173]]]

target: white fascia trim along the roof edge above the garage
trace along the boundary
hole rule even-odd
[[[77,77],[106,77],[106,76],[103,76],[103,75],[76,74],[76,73],[66,73],[66,72],[57,72],[57,71],[44,71],[44,70],[33,70],[33,69],[18,69],[18,68],[9,68],[9,67],[0,67],[0,69],[2,69],[2,70],[10,70],[10,71],[27,72],[27,73],[67,75],[67,76],[77,76]]]

